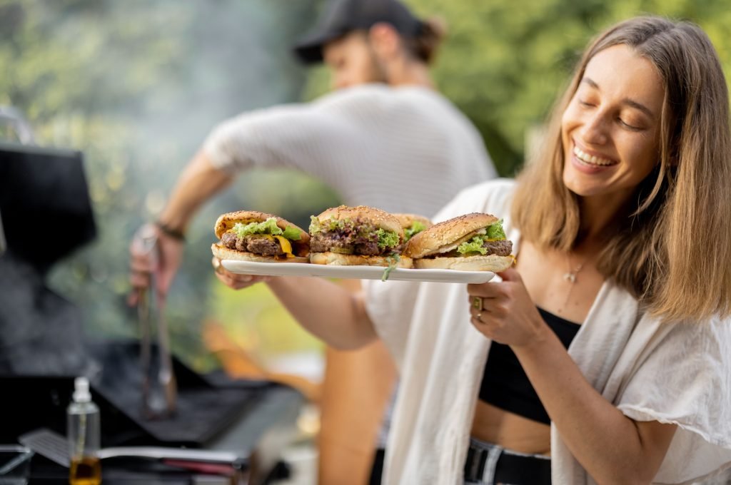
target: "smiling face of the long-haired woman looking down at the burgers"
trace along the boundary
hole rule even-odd
[[[632,196],[659,163],[663,98],[653,64],[631,47],[615,45],[591,58],[561,118],[569,190],[616,202]]]

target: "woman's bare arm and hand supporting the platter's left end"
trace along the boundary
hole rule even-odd
[[[272,263],[276,264],[276,263]],[[321,278],[261,278],[220,267],[216,277],[232,289],[266,281],[279,301],[308,332],[335,348],[360,348],[376,340],[363,295]]]

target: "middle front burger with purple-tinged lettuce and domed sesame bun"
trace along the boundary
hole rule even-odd
[[[311,217],[310,262],[339,266],[410,268],[398,253],[404,229],[398,219],[374,207],[341,205]]]

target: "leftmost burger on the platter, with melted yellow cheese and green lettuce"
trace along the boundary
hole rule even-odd
[[[226,213],[213,230],[221,241],[211,245],[211,251],[219,259],[309,262],[309,234],[276,215],[254,210]]]

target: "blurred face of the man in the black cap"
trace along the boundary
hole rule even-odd
[[[325,64],[330,68],[330,87],[333,89],[385,82],[382,69],[363,32],[354,31],[327,42],[322,53]]]

